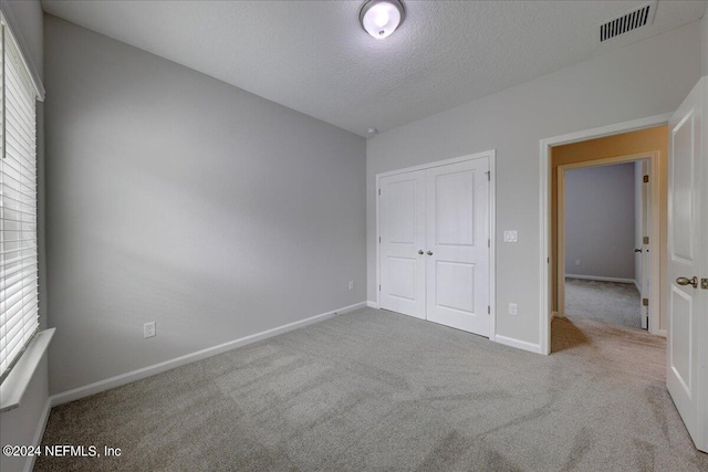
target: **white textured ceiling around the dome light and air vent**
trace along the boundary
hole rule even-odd
[[[658,2],[653,25],[600,44],[641,1],[406,1],[377,41],[362,1],[43,1],[44,11],[366,136],[698,20]]]

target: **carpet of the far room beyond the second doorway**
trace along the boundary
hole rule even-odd
[[[565,279],[565,314],[642,329],[639,292],[634,284]]]

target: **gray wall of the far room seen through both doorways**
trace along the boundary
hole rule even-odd
[[[565,172],[566,274],[634,280],[634,162]]]

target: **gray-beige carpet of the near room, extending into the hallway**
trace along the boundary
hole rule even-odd
[[[541,356],[361,310],[55,407],[37,471],[706,471],[663,338],[553,322]]]

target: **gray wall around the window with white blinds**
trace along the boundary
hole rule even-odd
[[[43,33],[42,7],[38,0],[2,1],[2,11],[12,21],[18,40],[25,48],[25,59],[42,76],[43,71]],[[43,105],[37,104],[37,159],[38,159],[38,238],[40,258],[40,325],[46,327],[46,263],[44,252],[44,119]],[[0,438],[4,444],[32,444],[38,424],[42,420],[48,399],[48,361],[46,355],[38,366],[34,376],[22,398],[20,407],[0,415]],[[0,470],[22,470],[27,463],[24,458],[6,458],[0,455]]]

